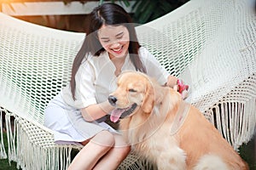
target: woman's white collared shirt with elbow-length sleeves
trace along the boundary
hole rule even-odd
[[[169,73],[160,65],[158,60],[143,47],[139,48],[138,54],[143,61],[148,76],[154,77],[160,84],[165,84]],[[131,54],[125,57],[122,71],[136,71],[129,55]],[[75,77],[76,100],[73,100],[69,84],[61,91],[62,98],[67,105],[77,109],[106,101],[108,94],[111,94],[117,88],[115,69],[113,62],[109,59],[108,52],[104,52],[98,57],[89,54],[88,58],[83,60]]]

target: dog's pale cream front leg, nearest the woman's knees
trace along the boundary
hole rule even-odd
[[[186,154],[179,147],[166,149],[156,156],[156,164],[159,170],[185,170]]]

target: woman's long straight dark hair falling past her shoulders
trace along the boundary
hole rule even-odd
[[[105,49],[102,47],[101,42],[97,38],[97,31],[102,27],[106,26],[125,26],[129,31],[130,44],[129,44],[129,54],[132,64],[135,66],[137,71],[142,71],[146,73],[146,69],[143,65],[142,60],[138,56],[138,49],[141,47],[137,41],[137,35],[132,24],[131,16],[128,14],[124,8],[120,7],[115,3],[103,3],[93,9],[90,13],[90,23],[89,31],[87,32],[84,42],[79,49],[79,53],[73,60],[72,74],[70,80],[71,92],[73,94],[73,99],[75,99],[75,76],[79,70],[83,59],[87,59],[87,54],[92,54],[94,56],[99,56]]]

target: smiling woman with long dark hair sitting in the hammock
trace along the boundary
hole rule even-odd
[[[113,111],[108,94],[124,70],[142,71],[171,87],[177,82],[137,42],[131,16],[117,4],[104,3],[90,13],[70,83],[45,110],[44,124],[54,131],[55,142],[84,145],[69,169],[116,169],[129,154],[130,146],[104,122]]]

